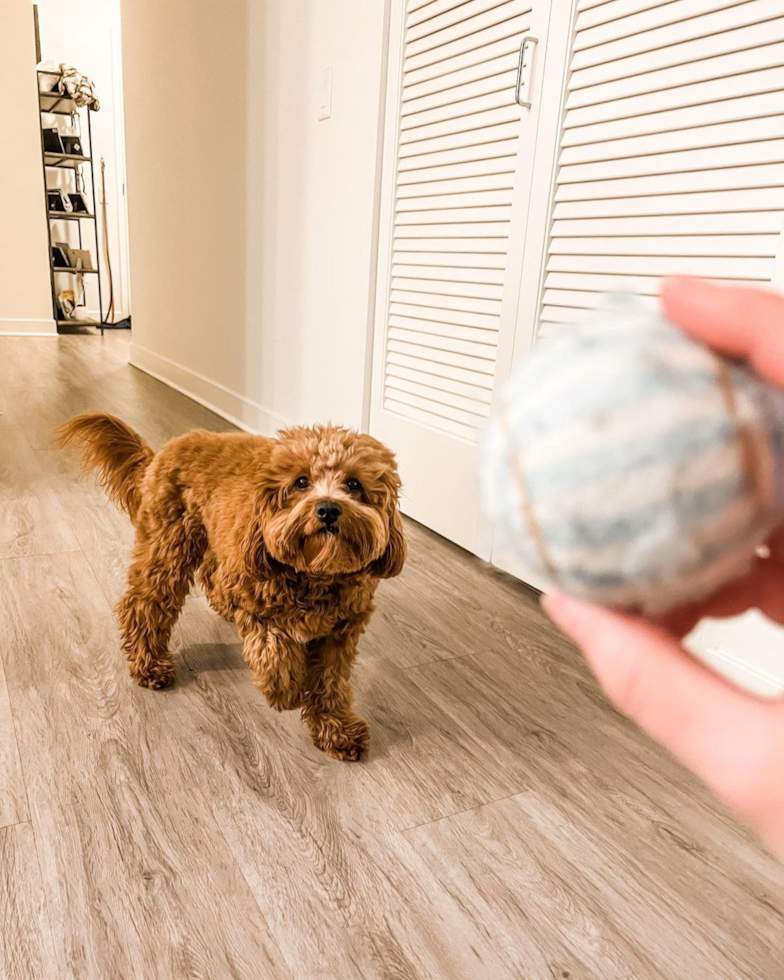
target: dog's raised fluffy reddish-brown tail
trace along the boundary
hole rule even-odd
[[[83,412],[55,432],[60,446],[81,443],[84,467],[97,470],[101,485],[131,516],[139,509],[139,483],[154,453],[133,429],[106,412]]]

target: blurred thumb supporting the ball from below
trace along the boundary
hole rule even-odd
[[[765,747],[780,741],[779,706],[742,693],[645,620],[558,593],[542,605],[616,707],[751,817]]]

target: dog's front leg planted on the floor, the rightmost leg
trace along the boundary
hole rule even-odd
[[[317,640],[308,656],[302,718],[313,744],[346,762],[357,762],[370,742],[367,722],[352,710],[349,683],[362,630],[362,624],[347,624]]]

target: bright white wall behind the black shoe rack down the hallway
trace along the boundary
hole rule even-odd
[[[28,0],[29,2],[29,0]],[[120,60],[120,0],[79,0],[73,4],[63,0],[36,0],[41,35],[41,57],[58,64],[65,62],[84,72],[95,84],[101,108],[91,114],[93,155],[95,157],[96,207],[99,228],[102,228],[100,206],[100,158],[106,161],[106,211],[109,228],[112,274],[114,281],[115,319],[130,313],[130,286],[128,272],[128,227],[125,207],[124,183],[125,160],[123,146],[122,65]],[[85,113],[82,112],[82,116]],[[52,117],[46,117],[51,120]],[[89,171],[85,169],[89,180]],[[63,178],[68,180],[67,177]],[[50,186],[56,186],[56,175],[50,177]],[[62,186],[66,186],[63,183]],[[72,185],[67,184],[70,188]],[[88,193],[89,196],[89,193]],[[73,231],[73,222],[59,222],[52,226],[54,241],[58,234]],[[92,231],[84,224],[85,247],[95,253]],[[101,232],[101,235],[103,233]],[[66,237],[66,241],[74,243]],[[102,239],[99,239],[101,241]],[[101,250],[101,262],[104,252]],[[109,306],[109,286],[106,266],[102,264],[104,313]],[[88,308],[98,312],[98,294],[95,277],[86,276]]]

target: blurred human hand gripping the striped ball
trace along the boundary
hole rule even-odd
[[[746,359],[784,389],[784,297],[673,279],[664,284],[662,303],[687,333]],[[784,700],[745,694],[680,643],[706,616],[757,608],[784,623],[784,527],[768,544],[770,555],[757,559],[745,578],[660,622],[560,593],[546,596],[542,605],[583,648],[619,710],[699,776],[784,860]]]

